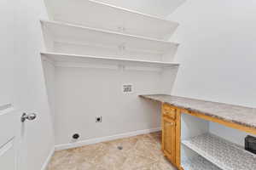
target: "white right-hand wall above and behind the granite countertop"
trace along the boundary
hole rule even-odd
[[[188,0],[170,15],[181,43],[172,94],[256,107],[255,8],[255,0]],[[216,123],[210,131],[236,144],[247,135]]]

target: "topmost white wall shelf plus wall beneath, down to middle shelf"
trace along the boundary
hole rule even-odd
[[[178,26],[177,22],[93,0],[47,0],[46,6],[56,21],[143,37],[168,39]]]

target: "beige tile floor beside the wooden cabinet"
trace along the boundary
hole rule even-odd
[[[122,146],[123,150],[119,150]],[[176,170],[160,150],[160,133],[56,151],[48,170]]]

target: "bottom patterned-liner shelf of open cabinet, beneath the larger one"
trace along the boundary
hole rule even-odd
[[[183,161],[182,167],[184,170],[221,170],[201,156],[195,156],[192,159]]]

